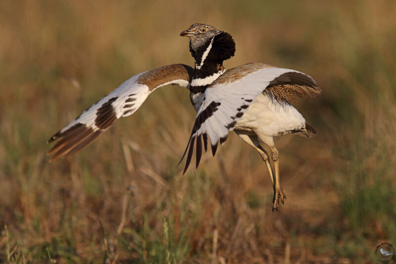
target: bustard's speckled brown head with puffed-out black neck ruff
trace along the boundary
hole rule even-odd
[[[235,42],[232,36],[211,25],[193,24],[188,29],[182,31],[180,36],[190,39],[190,51],[198,61],[209,46],[212,59],[221,62],[232,57],[235,53]]]

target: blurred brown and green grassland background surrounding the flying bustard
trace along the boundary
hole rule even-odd
[[[0,260],[376,262],[396,243],[395,13],[386,0],[1,1]],[[179,33],[196,22],[232,34],[227,68],[265,62],[322,88],[299,106],[319,135],[277,139],[277,213],[264,163],[235,135],[181,175],[196,113],[178,87],[48,162],[48,138],[124,80],[193,65]]]

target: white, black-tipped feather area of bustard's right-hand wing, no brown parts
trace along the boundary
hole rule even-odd
[[[195,141],[197,141],[196,166],[198,167],[202,154],[201,136],[204,140],[205,150],[206,137],[209,136],[214,156],[218,142],[223,144],[226,141],[228,131],[234,129],[235,124],[242,118],[248,106],[271,81],[287,72],[300,73],[295,70],[264,67],[263,65],[261,68],[250,71],[246,76],[229,80],[230,76],[227,76],[230,75],[229,72],[215,80],[204,92],[203,102],[198,110],[193,131],[183,155],[184,158],[188,150],[184,172],[191,162]]]

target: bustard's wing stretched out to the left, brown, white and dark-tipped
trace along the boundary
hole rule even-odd
[[[47,153],[53,155],[49,161],[87,146],[115,120],[133,114],[155,89],[167,84],[187,87],[193,74],[194,69],[188,65],[171,64],[133,76],[48,140],[56,141]]]

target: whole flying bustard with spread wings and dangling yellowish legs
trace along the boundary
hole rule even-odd
[[[279,154],[273,138],[286,133],[316,135],[293,104],[304,96],[319,95],[319,87],[302,72],[262,63],[226,70],[223,61],[234,55],[235,42],[230,34],[213,26],[193,24],[180,36],[190,39],[195,69],[172,64],[125,81],[49,139],[56,141],[48,152],[50,160],[74,154],[88,145],[115,120],[134,113],[155,89],[178,84],[190,90],[191,103],[198,112],[183,155],[187,154],[183,173],[195,145],[198,167],[202,145],[206,151],[208,138],[214,156],[218,143],[223,144],[229,131],[234,130],[265,161],[274,189],[272,210],[278,210],[279,201],[284,203],[286,196],[280,186]],[[275,172],[261,144],[269,147]]]

